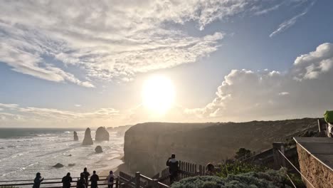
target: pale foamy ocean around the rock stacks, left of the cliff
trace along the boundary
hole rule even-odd
[[[124,137],[110,132],[110,141],[94,142],[83,146],[85,130],[78,132],[79,141],[73,141],[75,129],[0,128],[0,181],[11,179],[33,179],[36,172],[42,177],[58,178],[70,172],[78,177],[83,168],[88,172],[114,169],[123,155]],[[95,130],[91,133],[93,140]],[[102,153],[95,153],[100,145]],[[55,168],[61,163],[64,167]],[[74,164],[69,167],[68,164]]]

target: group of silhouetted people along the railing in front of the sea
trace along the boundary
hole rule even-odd
[[[89,177],[90,173],[87,171],[87,168],[83,169],[83,172],[80,173],[80,179],[78,179],[78,182],[76,182],[77,188],[88,188],[89,184]],[[41,173],[36,174],[36,178],[33,179],[33,188],[39,188],[41,186],[41,182],[43,182],[44,178],[41,177]],[[93,171],[93,175],[90,177],[90,187],[91,188],[97,188],[98,181],[100,180],[100,177],[96,174],[96,171]],[[113,182],[115,180],[115,175],[113,174],[112,170],[110,171],[110,174],[106,178],[107,180],[107,187],[112,188]],[[71,183],[73,182],[72,177],[70,177],[70,172],[68,172],[63,179],[61,180],[63,182],[63,188],[70,188]]]

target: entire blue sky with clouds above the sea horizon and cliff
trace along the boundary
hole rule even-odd
[[[0,4],[0,127],[284,120],[333,110],[333,1]],[[142,96],[155,78],[167,84]],[[145,98],[168,108],[149,109]]]

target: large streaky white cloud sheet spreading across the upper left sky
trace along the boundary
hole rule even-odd
[[[216,20],[263,11],[259,4],[266,3],[277,9],[280,1],[3,1],[0,61],[19,73],[88,88],[95,79],[132,80],[198,61],[224,36],[190,36],[175,24],[203,30]]]

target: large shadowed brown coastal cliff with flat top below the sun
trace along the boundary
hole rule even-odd
[[[165,168],[171,153],[178,160],[197,164],[221,162],[231,158],[240,147],[260,152],[272,142],[285,141],[305,130],[315,130],[317,119],[165,123],[134,125],[125,133],[125,164],[132,171],[149,176]]]

